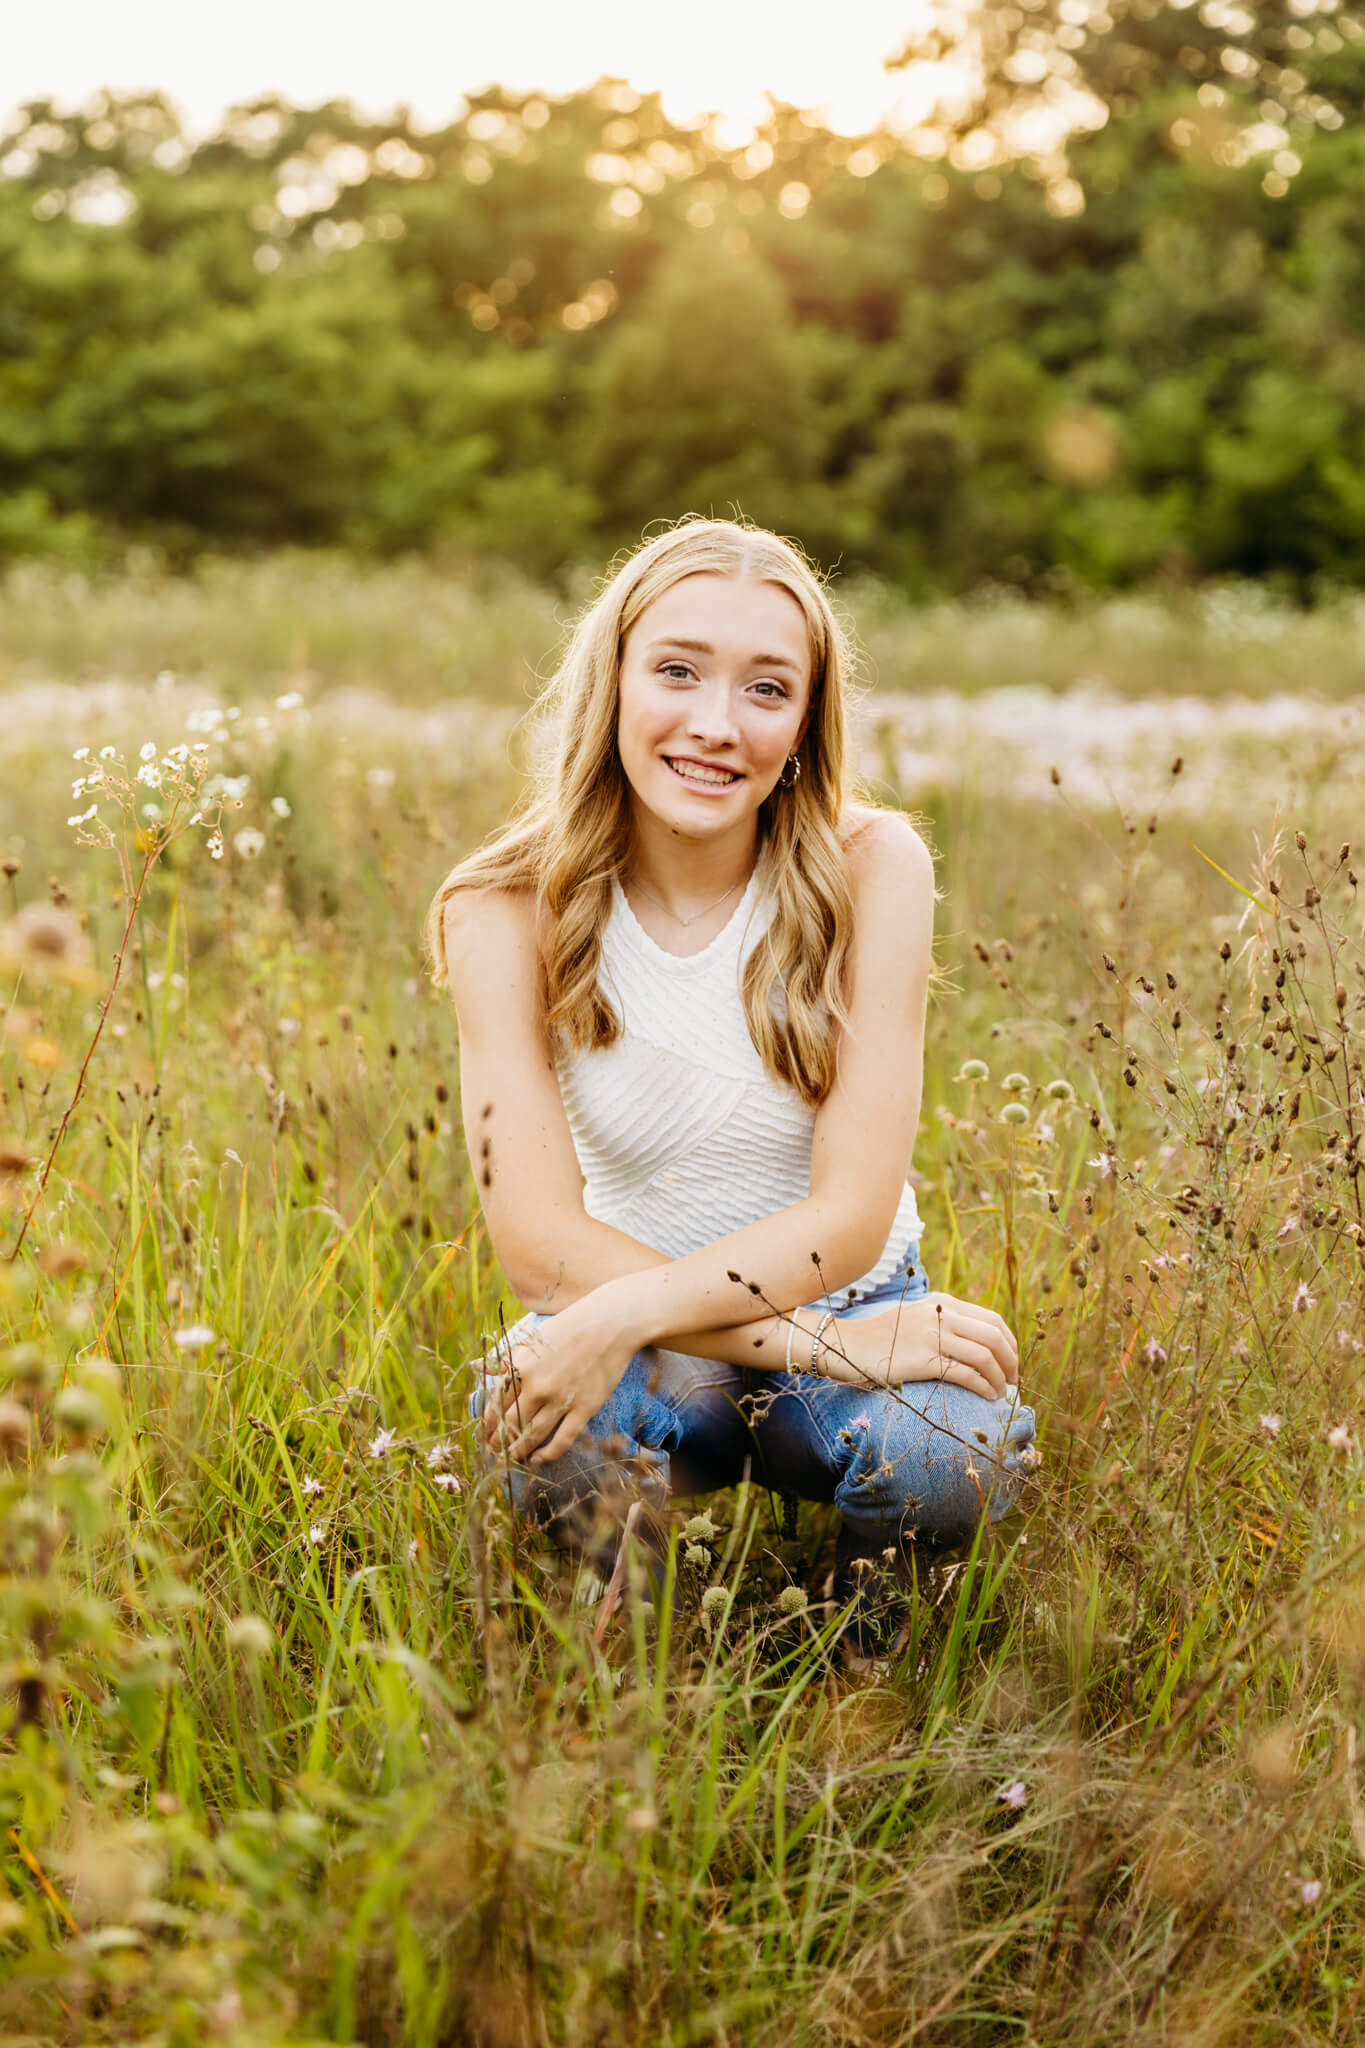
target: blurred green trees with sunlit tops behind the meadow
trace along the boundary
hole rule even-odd
[[[943,6],[909,135],[602,80],[29,104],[0,137],[0,557],[434,545],[559,575],[741,506],[921,594],[1365,582],[1365,31]],[[1064,133],[1064,121],[1070,131]]]

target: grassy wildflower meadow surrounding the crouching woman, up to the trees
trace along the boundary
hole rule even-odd
[[[1109,801],[896,737],[892,690],[1169,696],[1175,649],[1185,690],[1359,690],[1345,606],[1142,602],[1029,614],[1023,662],[1017,606],[866,596],[870,766],[929,819],[956,985],[925,1260],[1015,1321],[1044,1462],[853,1679],[825,1509],[712,1497],[681,1622],[628,1597],[598,1642],[471,1458],[505,1294],[417,932],[505,811],[555,602],[10,582],[4,2038],[1365,2036],[1359,780],[1312,700],[1279,807],[1273,760],[1191,803],[1144,741]]]

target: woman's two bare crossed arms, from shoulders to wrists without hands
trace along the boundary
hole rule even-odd
[[[821,1286],[847,1286],[876,1262],[919,1122],[933,866],[911,827],[886,813],[868,821],[849,866],[851,1032],[817,1112],[810,1194],[671,1262],[583,1210],[540,1020],[530,905],[452,899],[446,944],[465,1130],[503,1272],[528,1307],[559,1313],[591,1294],[636,1348],[686,1337],[704,1356],[772,1364],[774,1331],[747,1327],[765,1319],[763,1300],[731,1272],[788,1307]]]

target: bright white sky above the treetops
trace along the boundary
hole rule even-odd
[[[0,119],[98,86],[160,86],[211,127],[258,92],[309,104],[399,102],[440,123],[485,84],[567,92],[602,74],[661,88],[667,111],[745,117],[767,90],[847,133],[927,113],[927,84],[888,76],[927,0],[10,0]]]

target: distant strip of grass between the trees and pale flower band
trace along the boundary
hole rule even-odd
[[[1009,592],[923,606],[837,580],[888,690],[1076,684],[1119,696],[1357,696],[1365,600],[1304,610],[1257,584],[1029,602]],[[207,559],[170,575],[133,555],[88,580],[20,563],[0,580],[0,686],[23,680],[213,678],[229,696],[297,682],[379,688],[409,705],[479,696],[522,707],[589,578],[559,596],[512,569],[452,559],[366,563],[319,553]]]

